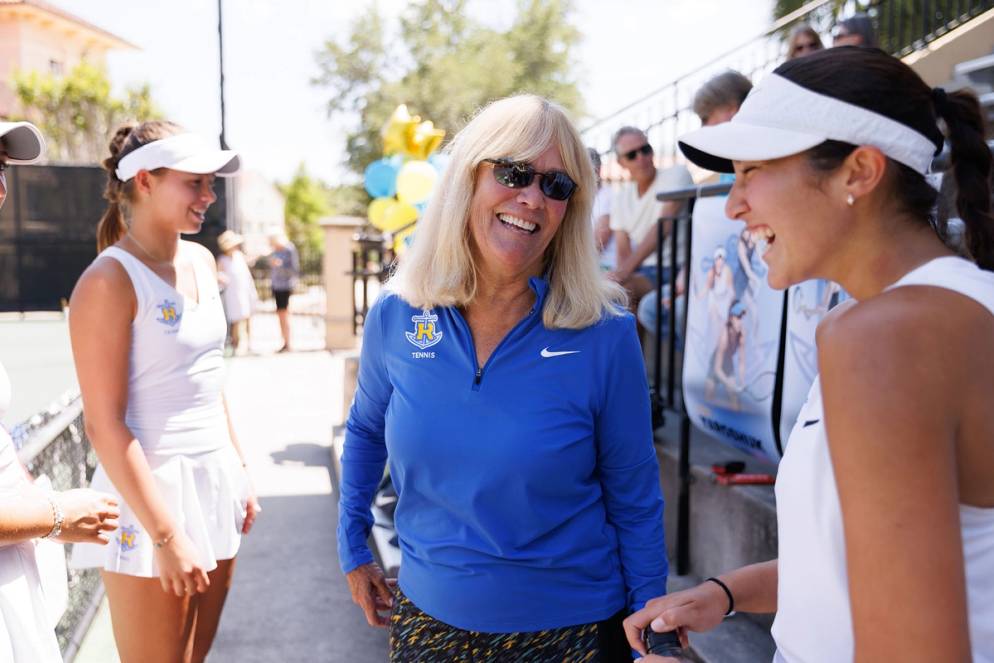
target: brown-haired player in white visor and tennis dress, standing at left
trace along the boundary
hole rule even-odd
[[[196,233],[214,177],[239,167],[169,122],[117,131],[104,160],[101,251],[70,301],[69,330],[93,486],[121,497],[99,566],[123,663],[203,661],[258,503],[222,395],[225,319],[214,258]]]

